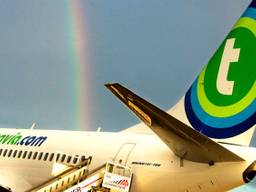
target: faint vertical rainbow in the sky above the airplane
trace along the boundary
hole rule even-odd
[[[72,129],[88,130],[91,126],[90,96],[90,58],[88,54],[88,23],[83,1],[66,0],[68,48],[70,52],[70,72],[73,92],[73,114],[75,127]]]

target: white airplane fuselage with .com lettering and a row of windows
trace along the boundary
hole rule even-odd
[[[30,137],[23,143],[19,140],[16,144],[11,144],[15,143],[14,137],[1,138],[3,135],[18,133],[22,136],[21,140]],[[45,140],[40,146],[31,146],[36,144],[33,143],[33,136],[42,136]],[[0,149],[0,184],[11,187],[13,191],[24,191],[52,177],[53,161],[49,161],[52,153],[92,156],[90,169],[110,160],[127,164],[134,173],[131,192],[226,191],[244,183],[242,173],[252,162],[249,158],[256,154],[254,149],[246,148],[245,152],[241,147],[233,146],[231,150],[245,153],[248,161],[215,163],[209,166],[181,161],[154,134],[22,129],[1,129]],[[4,156],[6,149],[8,150]],[[27,156],[13,157],[15,150],[17,154],[19,151],[27,151]],[[33,159],[36,152],[43,152],[41,160]],[[44,160],[46,153],[49,153],[49,157]]]

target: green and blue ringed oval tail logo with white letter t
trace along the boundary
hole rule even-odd
[[[256,124],[256,0],[185,95],[191,125],[211,138],[239,135]]]

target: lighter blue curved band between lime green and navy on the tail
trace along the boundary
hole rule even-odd
[[[207,112],[205,112],[199,101],[197,96],[197,81],[195,81],[191,87],[191,106],[192,109],[200,121],[202,121],[204,124],[216,127],[216,128],[226,128],[235,126],[244,120],[248,119],[250,116],[252,116],[255,113],[256,109],[256,100],[254,100],[245,110],[242,112],[233,115],[231,117],[213,117],[209,115]]]

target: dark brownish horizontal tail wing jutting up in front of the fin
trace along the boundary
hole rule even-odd
[[[243,159],[118,83],[105,85],[180,158],[212,164]]]

